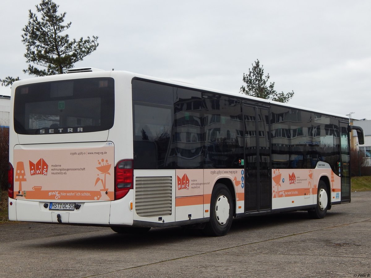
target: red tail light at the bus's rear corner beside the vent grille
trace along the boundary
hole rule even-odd
[[[115,167],[115,200],[121,199],[133,188],[133,160],[120,160]]]

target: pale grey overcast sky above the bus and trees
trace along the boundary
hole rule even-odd
[[[0,78],[30,78],[22,28],[40,0],[3,0]],[[99,36],[75,67],[239,92],[259,59],[289,104],[371,119],[371,1],[55,0],[70,38]],[[0,94],[10,95],[9,87]]]

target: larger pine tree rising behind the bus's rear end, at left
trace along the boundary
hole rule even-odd
[[[29,21],[22,29],[22,42],[26,46],[24,57],[29,63],[24,73],[34,76],[66,73],[73,64],[83,60],[98,47],[97,36],[70,40],[68,34],[62,35],[72,23],[63,25],[66,12],[58,14],[58,8],[59,5],[52,0],[42,0],[36,5],[37,13],[29,10]],[[9,86],[15,80],[19,80],[19,77],[8,76],[0,79],[0,82],[2,86]]]

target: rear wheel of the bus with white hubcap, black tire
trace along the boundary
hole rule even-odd
[[[228,188],[217,183],[211,194],[210,221],[206,223],[204,234],[223,236],[227,234],[233,217],[233,200]]]

